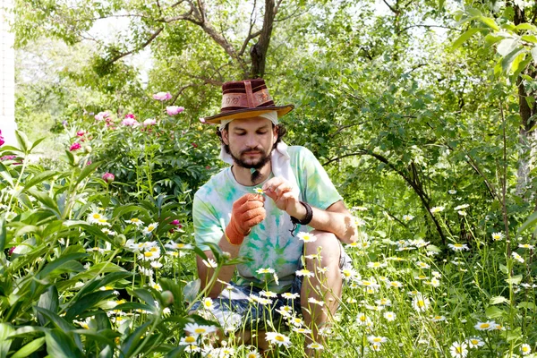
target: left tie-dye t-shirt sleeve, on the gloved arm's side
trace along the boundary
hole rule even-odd
[[[215,209],[208,201],[194,195],[192,219],[196,246],[201,251],[209,251],[210,248],[206,243],[218,244],[224,234],[220,220],[215,216]]]

